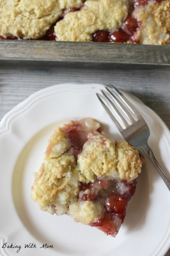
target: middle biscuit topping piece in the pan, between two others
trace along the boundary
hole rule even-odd
[[[97,30],[115,31],[128,15],[128,0],[87,0],[83,8],[57,22],[58,41],[92,41]]]

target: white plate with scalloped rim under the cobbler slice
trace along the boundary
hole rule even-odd
[[[129,202],[126,218],[116,238],[104,235],[97,228],[75,223],[67,215],[43,212],[31,199],[33,173],[43,161],[47,140],[56,125],[91,116],[103,123],[107,135],[115,140],[121,139],[96,97],[95,93],[100,93],[100,89],[103,85],[54,85],[34,93],[1,121],[2,256],[162,256],[168,251],[170,193],[146,157],[136,193]],[[147,121],[151,130],[149,144],[159,163],[170,172],[169,130],[140,100],[132,95],[126,96]],[[25,248],[25,244],[32,248]],[[53,248],[42,247],[43,244]]]

